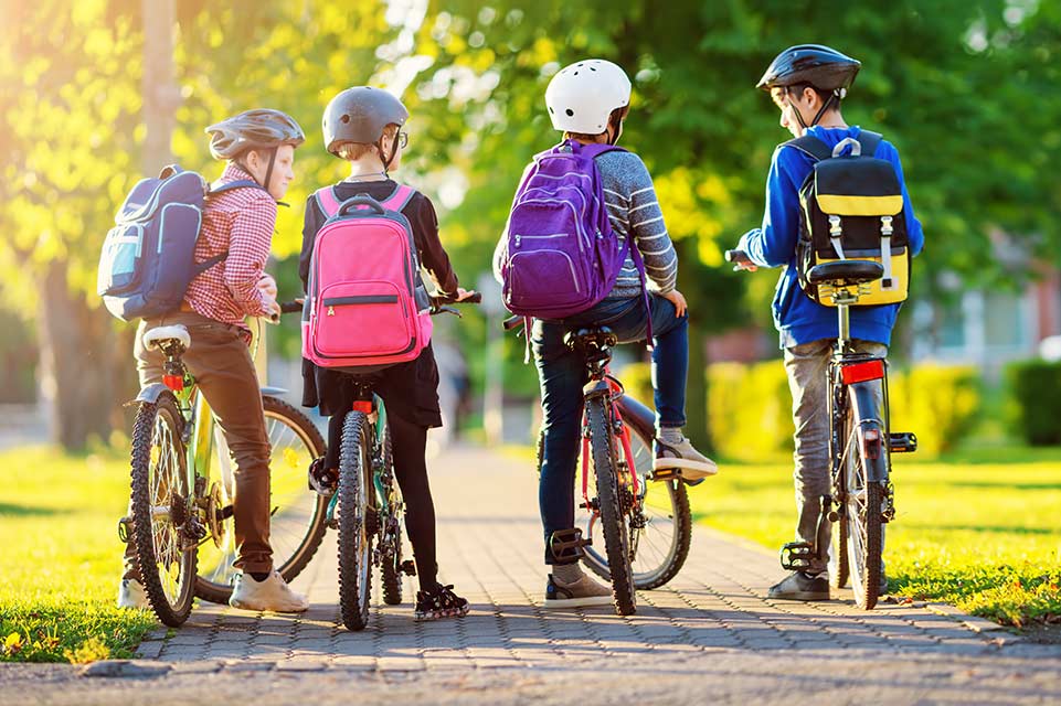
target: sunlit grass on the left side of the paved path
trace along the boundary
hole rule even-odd
[[[127,457],[0,452],[0,661],[131,656],[156,623],[114,606]]]

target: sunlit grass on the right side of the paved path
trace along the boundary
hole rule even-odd
[[[893,595],[1002,624],[1061,621],[1061,449],[896,457],[884,559]],[[697,520],[775,549],[792,539],[792,464],[726,463],[692,490]],[[778,567],[778,575],[781,575]]]

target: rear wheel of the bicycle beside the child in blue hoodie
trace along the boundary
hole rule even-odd
[[[877,605],[880,590],[883,489],[880,483],[868,481],[853,407],[852,400],[845,417],[844,438],[847,441],[841,467],[846,489],[844,523],[847,525],[847,558],[855,602],[863,610],[871,610]],[[866,425],[878,427],[873,421]],[[878,428],[878,431],[883,439],[882,430]]]

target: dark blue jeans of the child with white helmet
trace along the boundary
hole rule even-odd
[[[689,370],[689,319],[678,318],[675,306],[662,297],[649,296],[652,317],[652,387],[656,391],[656,426],[686,424],[686,374]],[[648,315],[641,297],[606,299],[575,317],[534,321],[531,347],[542,396],[542,453],[538,502],[545,532],[545,564],[560,561],[549,548],[554,532],[570,530],[575,522],[575,469],[582,430],[584,398],[588,382],[585,360],[564,345],[564,333],[586,325],[606,325],[619,342],[643,341]]]

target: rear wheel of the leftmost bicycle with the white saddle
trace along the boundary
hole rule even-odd
[[[198,556],[182,427],[168,392],[141,403],[132,427],[131,542],[148,602],[172,628],[191,612]]]

